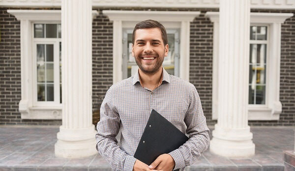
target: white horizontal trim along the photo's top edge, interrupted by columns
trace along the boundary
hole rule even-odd
[[[61,0],[0,0],[2,7],[60,7]],[[219,0],[92,0],[93,7],[219,8]],[[295,0],[251,0],[252,9],[294,9]]]

